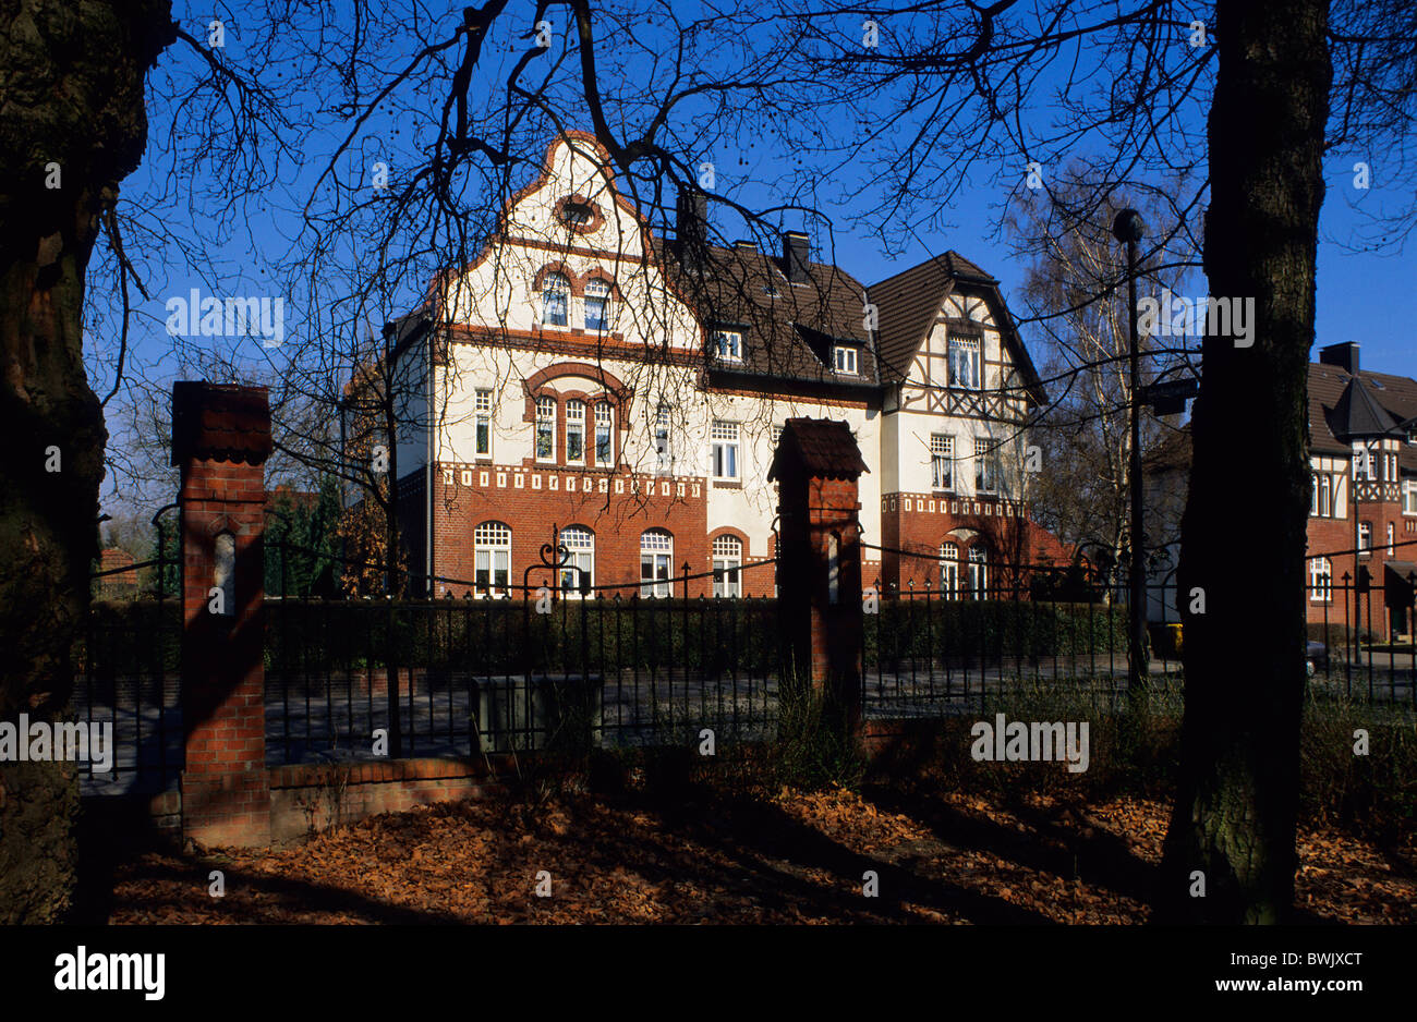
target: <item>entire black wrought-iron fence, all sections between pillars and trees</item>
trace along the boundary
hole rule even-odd
[[[1127,586],[1117,572],[971,569],[866,548],[914,558],[917,570],[903,575],[924,579],[873,580],[863,592],[866,718],[973,712],[990,694],[1033,682],[1125,689]],[[116,742],[112,771],[85,767],[88,791],[160,790],[181,769],[181,602],[166,549],[115,569],[137,572],[142,592],[95,600],[78,643],[79,720],[108,722]],[[283,542],[271,552],[278,563],[312,553]],[[778,600],[690,596],[699,583],[772,592],[775,562],[731,578],[683,565],[672,582],[582,585],[564,556],[547,545],[519,583],[499,578],[495,590],[434,579],[470,590],[461,599],[320,599],[278,582],[266,595],[268,763],[680,745],[706,728],[718,742],[775,733],[791,682]],[[1417,705],[1417,607],[1393,606],[1387,590],[1346,575],[1306,595],[1311,688]],[[1176,597],[1170,576],[1148,585],[1161,616],[1176,616]],[[1183,628],[1155,621],[1149,638],[1148,682],[1179,685]]]

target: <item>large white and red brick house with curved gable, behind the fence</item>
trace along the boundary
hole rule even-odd
[[[774,556],[788,418],[846,422],[863,539],[927,555],[867,549],[866,585],[968,596],[990,565],[1067,556],[1027,519],[1022,423],[1046,396],[996,280],[949,252],[864,287],[803,234],[768,253],[708,245],[706,222],[682,195],[656,236],[570,132],[478,259],[387,327],[417,381],[400,518],[435,596],[520,585],[553,529],[622,596],[677,596],[684,565],[718,572],[690,595],[771,595],[771,566],[734,569]]]

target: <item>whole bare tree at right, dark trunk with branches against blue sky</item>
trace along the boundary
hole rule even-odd
[[[1248,344],[1220,324],[1202,350],[1179,578],[1183,600],[1206,603],[1183,617],[1185,764],[1162,919],[1277,921],[1292,909],[1321,159],[1328,146],[1383,149],[1389,185],[1411,181],[1413,21],[1396,3],[1323,0],[796,6],[825,102],[856,127],[818,147],[813,171],[871,164],[849,191],[876,200],[860,219],[883,242],[945,226],[966,190],[993,185],[1006,205],[1070,167],[1088,187],[1050,191],[1060,228],[1156,195],[1185,234],[1165,248],[1203,248],[1210,294],[1255,303]],[[1178,180],[1196,184],[1169,194]],[[1389,222],[1404,234],[1413,215]],[[1247,512],[1270,525],[1246,555],[1281,595],[1264,607],[1230,583],[1241,437]]]

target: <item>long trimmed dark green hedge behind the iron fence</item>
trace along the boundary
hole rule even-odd
[[[775,599],[268,600],[265,665],[282,674],[401,667],[521,674],[690,670],[771,675],[784,655]],[[864,665],[904,660],[1125,655],[1124,607],[1029,602],[883,600],[864,619]],[[103,670],[176,671],[180,609],[95,602]],[[162,640],[157,634],[162,630]],[[79,662],[86,644],[81,640]]]

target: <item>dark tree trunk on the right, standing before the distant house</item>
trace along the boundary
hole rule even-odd
[[[1212,294],[1254,297],[1255,333],[1248,348],[1230,337],[1203,348],[1179,569],[1186,716],[1159,921],[1277,923],[1294,903],[1326,27],[1325,0],[1217,4],[1204,266]],[[1253,528],[1237,531],[1241,505]],[[1197,589],[1203,614],[1190,613]]]

